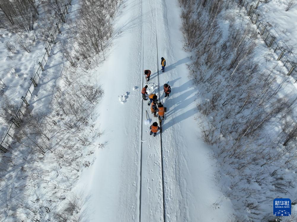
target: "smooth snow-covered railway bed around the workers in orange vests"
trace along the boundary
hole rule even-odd
[[[122,32],[95,72],[105,91],[97,125],[108,144],[77,186],[91,195],[91,221],[138,221],[140,210],[141,221],[163,220],[160,134],[149,136],[146,110],[151,123],[157,118],[140,94],[145,69],[152,72],[149,93],[162,95],[168,81],[172,88],[169,98],[162,97],[168,109],[162,124],[166,221],[228,221],[232,206],[215,183],[215,162],[195,122],[197,89],[188,78],[177,2],[125,1],[120,10],[115,29]],[[167,65],[158,83],[161,57]]]

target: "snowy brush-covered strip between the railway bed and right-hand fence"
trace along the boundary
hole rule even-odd
[[[273,199],[297,197],[295,80],[242,6],[180,2],[200,126],[218,162],[217,183],[236,210],[230,220],[275,219]]]

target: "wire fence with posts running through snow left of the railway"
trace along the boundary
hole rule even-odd
[[[60,19],[56,23],[56,27],[53,30],[53,33],[50,34],[49,43],[48,43],[48,46],[45,48],[45,53],[42,57],[42,60],[40,62],[38,62],[39,66],[37,68],[37,71],[36,71],[35,75],[30,78],[31,82],[28,86],[25,96],[21,97],[22,103],[20,104],[20,107],[19,107],[18,111],[16,112],[15,116],[10,119],[10,121],[12,123],[0,144],[0,150],[2,152],[7,152],[9,150],[10,144],[12,143],[12,139],[13,139],[13,132],[14,132],[15,128],[20,127],[20,124],[22,123],[22,117],[24,116],[26,108],[30,105],[26,98],[28,98],[28,96],[32,96],[34,88],[37,87],[38,81],[40,79],[40,74],[42,71],[44,71],[43,65],[45,65],[47,63],[45,58],[50,57],[50,50],[52,50],[52,44],[56,44],[55,39],[58,37],[57,34],[59,34],[59,33],[61,34],[60,28],[63,27],[62,22],[66,22],[65,15],[68,14],[68,8],[69,8],[69,5],[71,5],[71,1],[72,0],[67,1],[67,3],[65,4],[64,11],[62,13],[60,13],[61,14]],[[15,127],[13,127],[13,126],[15,126]]]

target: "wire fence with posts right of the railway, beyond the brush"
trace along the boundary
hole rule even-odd
[[[269,48],[274,49],[274,52],[277,54],[278,61],[283,62],[283,66],[287,68],[287,75],[293,75],[294,77],[297,77],[297,68],[296,68],[296,62],[290,61],[288,57],[286,56],[286,50],[280,47],[276,42],[276,37],[271,35],[269,31],[267,30],[267,24],[263,24],[259,20],[260,15],[255,12],[254,9],[257,9],[258,4],[260,0],[257,1],[257,4],[255,7],[253,7],[252,4],[249,4],[247,0],[240,0],[239,1],[241,5],[245,8],[247,15],[249,16],[249,19],[252,21],[253,24],[257,25],[257,29],[259,30],[260,36],[263,38],[266,46]],[[297,81],[297,78],[296,78]],[[295,82],[296,82],[295,81]]]

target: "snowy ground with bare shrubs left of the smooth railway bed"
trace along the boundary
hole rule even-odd
[[[40,73],[38,86],[32,91],[32,96],[26,97],[30,105],[25,111],[22,110],[20,126],[13,127],[13,140],[8,152],[0,153],[1,219],[88,221],[81,210],[88,197],[84,197],[81,192],[72,192],[72,188],[81,172],[92,164],[94,149],[104,147],[102,142],[94,143],[94,139],[100,137],[102,132],[94,126],[98,114],[93,112],[103,91],[98,85],[98,79],[89,75],[89,70],[102,62],[102,51],[108,50],[112,37],[110,21],[117,7],[113,3],[116,2],[111,1],[112,6],[102,6],[98,5],[98,1],[74,0],[69,6],[66,23],[63,23],[61,34],[57,33],[56,44],[52,45],[50,57],[46,58],[47,64],[43,65],[45,71]],[[89,7],[90,4],[92,8]],[[22,89],[25,89],[38,62],[34,58],[38,49],[44,49],[41,39],[48,37],[42,31],[52,31],[57,17],[60,17],[56,9],[59,10],[64,5],[65,1],[44,1],[40,4],[40,13],[34,26],[34,31],[40,33],[35,35],[36,46],[31,46],[31,52],[22,55],[16,47],[17,52],[10,54],[12,62],[5,63],[5,51],[1,51],[1,59],[4,59],[4,63],[1,63],[3,71],[14,64],[16,77],[19,77],[15,80],[1,73],[1,77],[7,81],[3,97],[7,97],[12,103],[2,103],[1,121],[9,122],[15,115]],[[30,7],[29,9],[31,10]],[[19,15],[14,16],[13,19],[17,19]],[[97,27],[100,40],[99,37],[92,39],[93,42],[97,40],[101,43],[100,46],[97,44],[100,50],[92,48],[94,51],[88,49],[91,40],[86,37],[84,30],[93,30],[90,27],[93,22],[87,23],[92,19],[103,22],[98,24],[100,28]],[[18,34],[21,32],[14,31]],[[34,36],[34,31],[28,35]],[[24,33],[26,37],[26,32]],[[16,41],[16,35],[11,36],[8,40]],[[31,73],[23,73],[22,70]],[[15,88],[19,91],[15,91]]]

